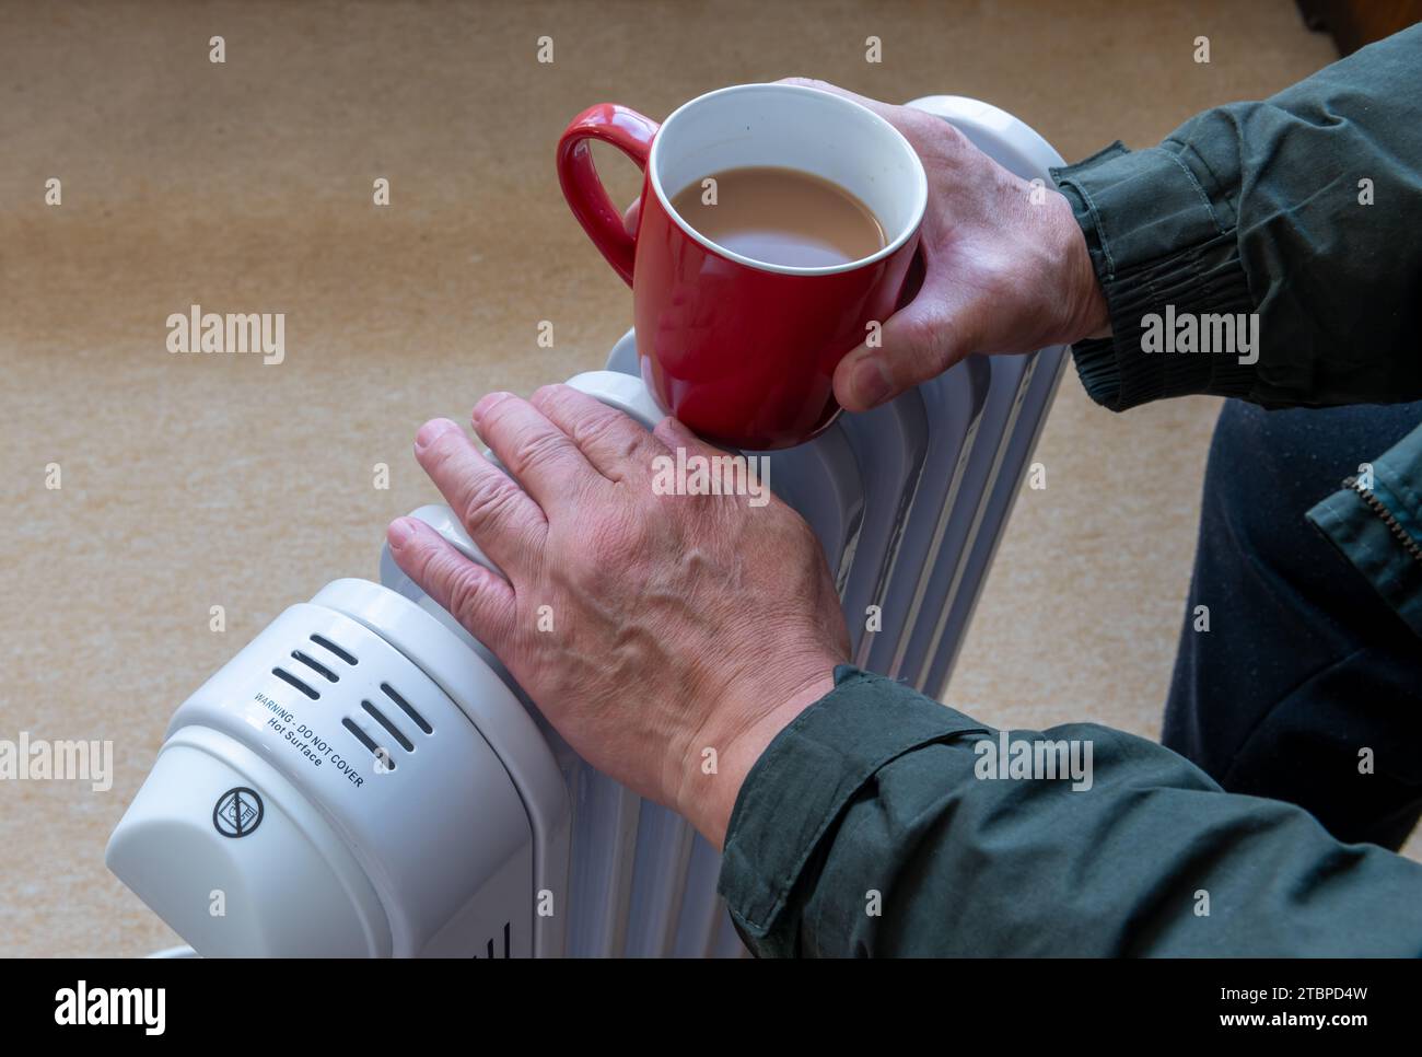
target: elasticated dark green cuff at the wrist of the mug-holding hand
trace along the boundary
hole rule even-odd
[[[1076,343],[1072,358],[1091,398],[1112,411],[1202,393],[1243,397],[1254,386],[1258,331],[1246,331],[1246,350],[1237,323],[1243,314],[1249,326],[1254,303],[1234,212],[1189,156],[1170,141],[1136,152],[1116,142],[1052,169],[1086,238],[1112,326],[1109,339]],[[1182,329],[1190,317],[1193,340]],[[1216,351],[1226,334],[1229,350]]]

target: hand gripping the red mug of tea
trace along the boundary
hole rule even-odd
[[[943,118],[855,95],[823,81],[786,84],[835,92],[897,128],[923,159],[929,208],[923,286],[883,320],[879,344],[860,344],[835,370],[835,398],[867,411],[971,353],[1031,353],[1109,333],[1086,239],[1066,199],[1021,179]],[[624,215],[636,232],[638,206]]]

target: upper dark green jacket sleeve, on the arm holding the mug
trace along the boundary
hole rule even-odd
[[[1422,26],[1052,175],[1111,310],[1074,349],[1099,404],[1422,398]]]

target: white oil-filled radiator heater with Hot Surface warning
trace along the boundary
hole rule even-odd
[[[1062,164],[995,107],[910,105],[1024,179]],[[769,454],[862,667],[944,687],[1064,353],[970,357]],[[569,384],[647,428],[661,417],[631,331],[606,371]],[[482,558],[448,508],[414,516]],[[380,583],[334,580],[292,606],[178,708],[107,862],[203,956],[745,953],[715,849],[583,763],[388,551]]]

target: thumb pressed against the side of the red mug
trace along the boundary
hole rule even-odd
[[[846,411],[869,411],[920,381],[936,378],[977,351],[973,306],[939,283],[889,317],[835,368],[835,398]]]

